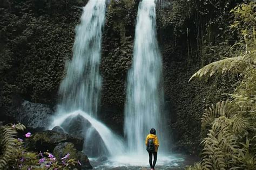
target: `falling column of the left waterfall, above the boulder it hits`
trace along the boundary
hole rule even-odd
[[[105,0],[91,0],[76,27],[73,58],[60,84],[58,113],[81,109],[97,117],[102,80],[99,75]]]

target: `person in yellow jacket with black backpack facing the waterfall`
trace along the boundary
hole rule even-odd
[[[152,128],[150,130],[150,134],[147,135],[146,137],[146,150],[149,152],[149,163],[150,163],[150,168],[151,170],[154,170],[154,166],[157,163],[157,151],[159,147],[159,141],[156,136],[156,129]],[[152,155],[154,155],[154,161],[152,164]]]

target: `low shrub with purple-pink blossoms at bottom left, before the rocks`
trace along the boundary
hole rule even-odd
[[[11,128],[14,132],[17,132],[16,125],[6,125],[4,128]],[[1,132],[0,132],[1,133]],[[4,134],[0,134],[1,136]],[[16,136],[16,135],[15,135]],[[30,132],[25,134],[26,138],[30,138],[32,134]],[[14,144],[12,147],[15,147],[12,150],[13,153],[10,154],[10,159],[4,165],[5,169],[72,169],[79,168],[82,166],[79,160],[75,160],[70,158],[70,154],[66,153],[66,155],[61,158],[59,161],[57,158],[49,153],[49,152],[29,152],[24,147],[25,139],[14,138]],[[1,162],[0,162],[1,164]]]

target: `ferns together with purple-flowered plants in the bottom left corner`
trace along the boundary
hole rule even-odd
[[[5,125],[0,128],[1,155],[0,169],[72,169],[80,168],[79,161],[71,158],[56,160],[48,152],[35,153],[29,152],[24,147],[22,139],[17,139],[17,131],[24,131],[25,126],[22,124]],[[68,152],[65,152],[68,154]],[[73,157],[74,155],[71,155]],[[39,161],[40,160],[40,161]],[[63,163],[65,162],[65,164]]]

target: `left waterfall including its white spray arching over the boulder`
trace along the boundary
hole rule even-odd
[[[89,155],[90,153],[92,153],[91,155],[100,155],[105,148],[110,155],[119,154],[118,151],[123,151],[122,140],[105,125],[92,118],[97,117],[102,84],[99,65],[105,8],[105,0],[90,0],[83,8],[81,22],[76,27],[73,58],[68,63],[66,76],[60,84],[61,101],[50,127],[52,129],[58,125],[66,132],[72,132],[73,126],[71,127],[71,124],[73,125],[74,121],[75,124],[76,121],[86,122],[79,120],[81,117],[74,118],[74,116],[82,115],[90,122],[90,126],[87,123],[83,124],[83,127],[79,126],[79,131],[83,131],[83,134],[79,135],[84,135],[85,141],[87,141],[84,143],[84,151]],[[100,137],[95,139],[96,136]],[[113,142],[118,150],[110,148]],[[89,146],[89,143],[92,145]]]

